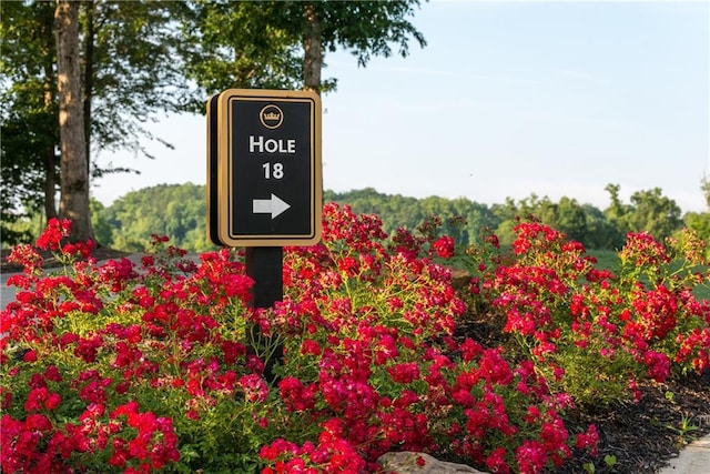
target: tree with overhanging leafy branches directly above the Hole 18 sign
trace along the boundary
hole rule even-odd
[[[189,4],[183,30],[193,47],[183,54],[190,78],[207,93],[234,87],[327,91],[335,80],[322,79],[326,51],[345,48],[365,65],[372,56],[389,57],[393,43],[406,56],[410,37],[426,44],[406,20],[418,0]]]

